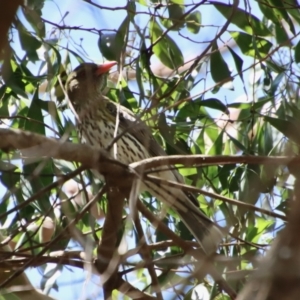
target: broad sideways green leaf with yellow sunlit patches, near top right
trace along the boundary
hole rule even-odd
[[[269,50],[273,46],[268,40],[254,37],[240,31],[230,31],[229,33],[245,55],[264,58],[268,55]]]

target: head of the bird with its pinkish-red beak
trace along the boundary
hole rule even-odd
[[[101,95],[106,86],[107,73],[117,62],[101,65],[82,63],[70,73],[66,83],[68,97],[75,107],[80,107],[92,97]]]

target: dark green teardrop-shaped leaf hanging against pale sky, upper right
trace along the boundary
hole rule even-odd
[[[216,42],[212,44],[212,54],[210,57],[210,71],[213,80],[218,83],[220,81],[231,80],[230,71],[224,61]]]

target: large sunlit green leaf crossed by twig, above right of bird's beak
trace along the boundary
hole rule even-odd
[[[183,65],[181,50],[168,35],[162,37],[163,31],[153,19],[150,21],[150,34],[152,42],[155,43],[153,52],[165,66],[173,70]],[[158,39],[160,40],[156,43]]]

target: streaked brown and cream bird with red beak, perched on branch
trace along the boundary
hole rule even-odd
[[[115,61],[100,65],[84,62],[67,78],[65,89],[77,114],[81,141],[97,149],[108,150],[112,157],[124,164],[155,156],[166,156],[166,152],[155,140],[145,122],[126,107],[104,95],[108,72],[116,64]],[[116,133],[120,138],[116,139],[117,146],[113,148],[111,143]],[[161,179],[184,183],[182,176],[172,166],[167,170],[152,172]],[[140,183],[139,192],[144,191],[150,192],[178,213],[205,254],[210,255],[216,251],[224,232],[200,210],[194,195],[147,180]]]

